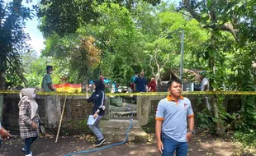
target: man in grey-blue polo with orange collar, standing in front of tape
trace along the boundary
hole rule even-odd
[[[180,80],[168,82],[167,98],[160,100],[155,117],[157,148],[162,156],[187,156],[194,133],[194,114],[189,99],[181,95]],[[188,130],[187,130],[188,121]]]

